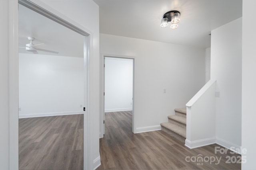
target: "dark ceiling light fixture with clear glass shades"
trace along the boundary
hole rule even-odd
[[[180,22],[180,12],[179,11],[169,11],[163,15],[161,27],[166,28],[168,22],[171,22],[171,29],[178,28],[178,22]]]

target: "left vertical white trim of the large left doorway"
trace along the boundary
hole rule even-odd
[[[18,0],[9,1],[9,169],[19,169]],[[8,156],[8,155],[6,155]]]

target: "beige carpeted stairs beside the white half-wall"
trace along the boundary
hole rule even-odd
[[[162,131],[178,139],[182,143],[186,140],[186,108],[174,109],[175,115],[168,116],[168,122],[161,123]]]

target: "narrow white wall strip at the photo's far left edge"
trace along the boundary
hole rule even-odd
[[[9,54],[8,0],[0,1],[0,166],[9,169]]]

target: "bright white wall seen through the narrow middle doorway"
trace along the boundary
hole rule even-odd
[[[132,110],[133,60],[105,57],[105,112]]]

